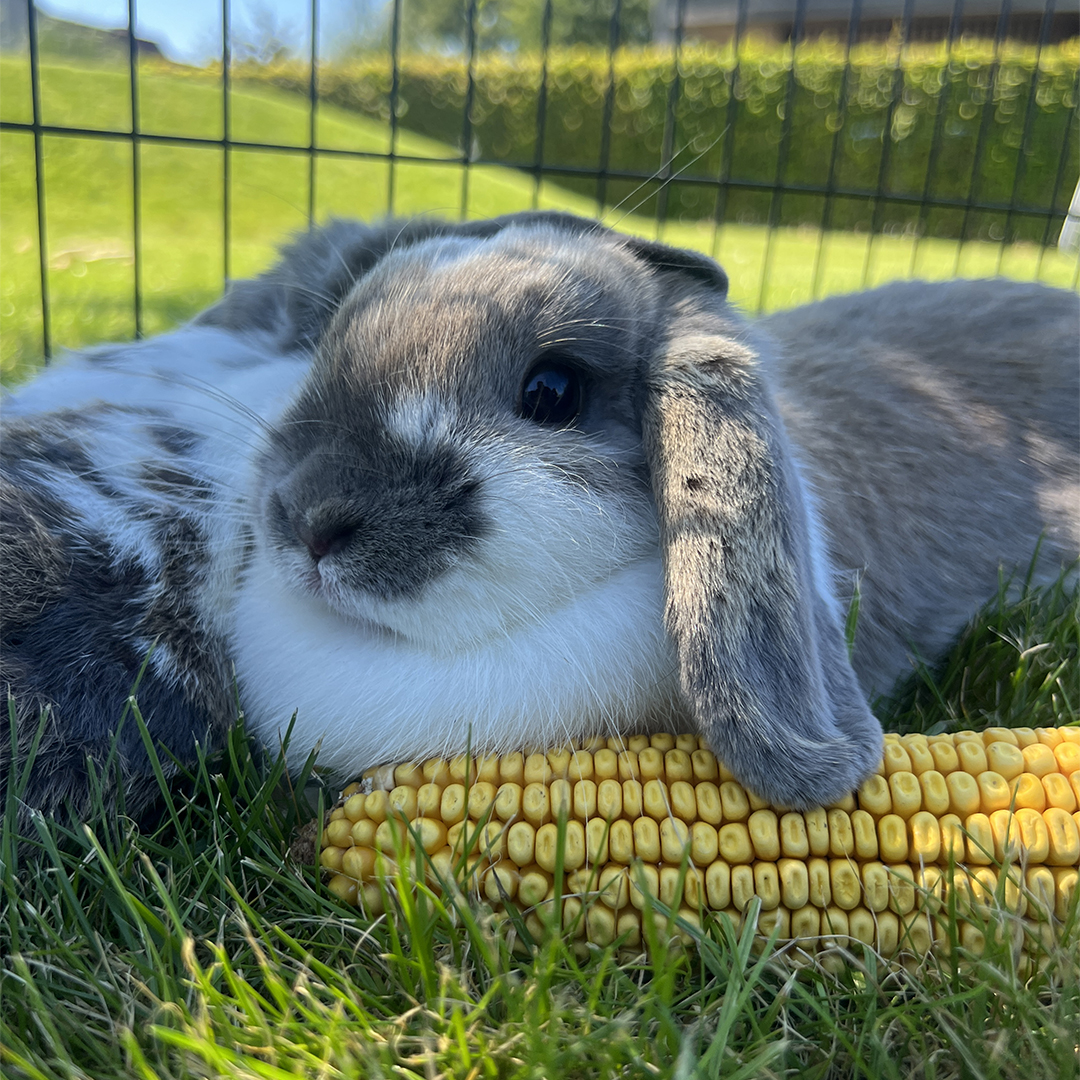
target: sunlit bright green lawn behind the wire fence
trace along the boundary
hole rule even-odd
[[[0,59],[5,120],[30,119],[28,69],[15,57]],[[44,64],[41,108],[46,123],[123,131],[131,107],[126,69]],[[219,138],[222,106],[212,75],[173,67],[144,67],[139,79],[140,127],[149,133]],[[307,102],[272,87],[238,84],[230,95],[231,133],[240,140],[272,140],[295,150],[234,150],[230,154],[232,276],[266,268],[276,246],[303,228],[309,194]],[[468,171],[447,161],[446,145],[402,131],[397,151],[424,158],[391,167],[386,124],[334,106],[318,111],[316,145],[372,154],[320,154],[315,168],[315,216],[378,218],[436,214],[469,217],[529,208],[594,215],[596,203],[551,183],[539,188],[519,172],[498,166]],[[48,287],[54,346],[77,347],[130,338],[135,333],[135,260],[132,212],[132,143],[83,135],[42,139],[48,238]],[[143,330],[175,326],[212,302],[224,286],[224,156],[216,147],[144,143],[140,174],[140,289]],[[0,136],[0,378],[29,374],[41,355],[41,296],[33,140]],[[632,211],[654,192],[631,197],[611,185],[616,205],[605,219],[644,235],[657,222]],[[789,197],[792,200],[797,197]],[[623,200],[618,203],[618,200]],[[715,254],[731,276],[732,298],[756,310],[791,307],[815,294],[850,292],[863,284],[910,275],[944,279],[1001,272],[1075,287],[1077,260],[1034,245],[1000,245],[912,237],[875,237],[813,228],[727,222],[670,221],[662,239]]]

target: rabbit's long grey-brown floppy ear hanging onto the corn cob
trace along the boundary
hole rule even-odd
[[[718,267],[712,297],[702,288],[711,260],[658,244],[636,252],[675,271],[667,310],[679,312],[648,373],[642,423],[683,693],[758,795],[835,801],[874,770],[881,730],[848,662],[758,353],[716,296]]]

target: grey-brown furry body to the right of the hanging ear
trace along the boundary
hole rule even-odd
[[[762,320],[829,558],[860,579],[859,680],[887,693],[998,586],[1080,552],[1080,302],[897,282]]]

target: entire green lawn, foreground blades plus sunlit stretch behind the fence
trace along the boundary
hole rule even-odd
[[[3,116],[26,118],[13,62],[0,62]],[[21,89],[22,87],[22,89]],[[123,127],[126,73],[46,68],[50,123]],[[206,77],[151,72],[148,131],[215,137],[220,95]],[[78,111],[76,111],[78,109]],[[233,135],[307,140],[305,103],[238,87]],[[374,154],[384,126],[334,108],[324,146]],[[402,133],[399,151],[447,154]],[[3,377],[40,353],[32,140],[0,148]],[[221,152],[145,145],[140,264],[144,329],[189,316],[222,284]],[[131,336],[132,162],[126,140],[44,140],[53,338],[79,345]],[[321,156],[318,216],[457,215],[453,163],[391,168]],[[178,197],[178,192],[183,192]],[[474,168],[468,213],[537,202],[591,214],[588,200],[505,168]],[[305,224],[303,152],[238,150],[231,164],[232,273],[253,273]],[[632,208],[632,204],[630,204]],[[615,212],[618,217],[622,211]],[[621,228],[654,234],[650,219]],[[710,225],[669,225],[665,239],[711,249]],[[717,254],[751,309],[869,282],[996,271],[1075,286],[1055,252],[726,225]],[[762,289],[761,282],[766,281]],[[1002,589],[948,658],[877,703],[887,728],[956,730],[1080,723],[1080,598],[1075,580]],[[323,793],[323,798],[330,793]],[[311,799],[315,799],[312,805]],[[241,728],[228,750],[164,792],[160,822],[104,811],[78,827],[21,828],[14,788],[0,826],[0,1063],[12,1080],[610,1077],[768,1080],[1065,1080],[1077,1074],[1080,935],[1077,900],[1041,939],[1035,970],[1008,935],[985,955],[935,951],[892,970],[853,947],[839,968],[796,964],[782,943],[706,921],[689,949],[626,957],[576,950],[552,935],[521,955],[483,904],[406,891],[372,922],[330,895],[314,867],[288,858],[319,792],[291,782]]]

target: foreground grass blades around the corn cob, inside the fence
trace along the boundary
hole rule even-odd
[[[924,731],[1075,724],[1078,626],[1067,579],[1018,597],[1002,589],[880,715]],[[39,818],[21,835],[12,795],[0,828],[4,1076],[1076,1075],[1075,910],[1026,972],[990,926],[982,957],[954,943],[908,970],[865,947],[835,970],[796,966],[726,921],[651,959],[582,954],[558,934],[519,955],[460,896],[406,889],[373,922],[329,895],[286,855],[313,812],[305,781],[289,783],[238,727],[183,792],[165,789],[158,826],[97,811],[73,828]]]

